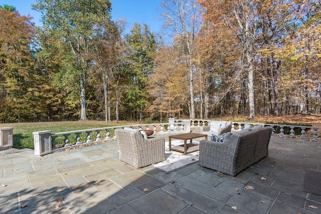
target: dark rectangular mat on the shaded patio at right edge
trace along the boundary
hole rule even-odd
[[[321,195],[321,172],[306,170],[303,191]]]

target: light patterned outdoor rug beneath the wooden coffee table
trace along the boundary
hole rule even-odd
[[[193,140],[193,143],[199,144],[199,141]],[[172,147],[184,144],[184,140],[172,140]],[[199,151],[184,155],[182,152],[169,151],[169,142],[165,142],[165,161],[153,164],[157,169],[170,173],[178,170],[188,164],[195,163],[199,160]]]

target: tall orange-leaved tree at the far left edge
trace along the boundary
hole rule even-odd
[[[9,6],[0,9],[0,19],[2,116],[7,121],[28,120],[30,111],[35,111],[31,100],[26,99],[26,94],[33,93],[31,88],[37,84],[35,58],[31,50],[35,26],[31,17],[20,16]]]

